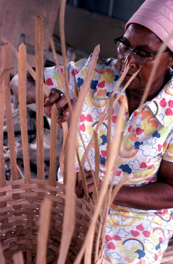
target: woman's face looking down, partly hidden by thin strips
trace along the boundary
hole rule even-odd
[[[161,40],[153,32],[151,32],[149,29],[139,24],[130,24],[122,40],[131,48],[141,48],[150,53],[159,51],[159,47],[162,44]],[[130,79],[130,76],[134,72],[136,72],[141,66],[139,73],[130,83],[128,88],[137,89],[139,93],[143,93],[149,75],[151,73],[153,64],[156,61],[156,55],[152,55],[148,57],[147,60],[141,64],[135,61],[132,51],[126,57],[121,54],[118,54],[118,72],[120,77],[125,69],[127,59],[131,67],[124,81],[122,82],[122,85],[125,86],[125,84]],[[173,57],[171,53],[170,52],[163,53],[161,55],[159,65],[157,67],[153,79],[150,94],[152,94],[152,92],[155,92],[157,89],[161,88],[165,79],[165,71],[167,68],[171,67],[172,65],[173,65]]]

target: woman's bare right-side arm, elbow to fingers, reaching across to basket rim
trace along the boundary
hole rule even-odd
[[[87,184],[89,193],[92,193],[93,182],[91,177],[87,176]],[[81,197],[81,188],[82,184],[80,183],[76,192],[78,197]],[[173,208],[173,163],[162,160],[157,182],[139,187],[123,186],[113,203],[141,210]]]

